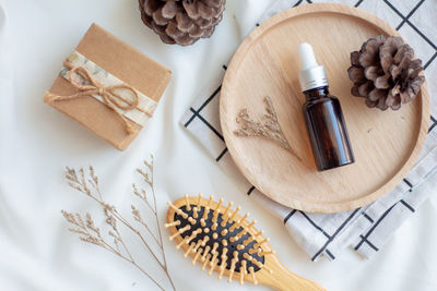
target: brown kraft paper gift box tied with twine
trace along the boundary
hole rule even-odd
[[[170,74],[93,24],[44,101],[122,150],[152,118]]]

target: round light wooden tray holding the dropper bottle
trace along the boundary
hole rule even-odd
[[[227,69],[220,118],[229,153],[244,175],[283,205],[317,213],[338,213],[369,204],[401,182],[420,155],[429,120],[426,84],[400,110],[369,109],[350,93],[350,52],[377,35],[398,32],[359,9],[310,4],[276,14],[240,45]],[[304,123],[305,96],[297,81],[300,43],[312,45],[323,64],[330,92],[342,105],[355,163],[318,172]],[[272,99],[295,155],[267,140],[238,137],[236,117],[247,108],[260,119],[263,97]]]

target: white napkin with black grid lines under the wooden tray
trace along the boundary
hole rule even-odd
[[[435,60],[437,46],[430,40],[430,37],[437,35],[437,25],[435,25],[437,23],[433,19],[433,15],[437,15],[437,11],[436,2],[430,3],[433,1],[435,0],[426,2],[425,0],[393,2],[359,0],[354,4],[379,15],[400,31],[424,61],[429,88],[434,90],[432,93],[435,93],[437,89],[435,87],[435,83],[437,83],[437,61]],[[303,4],[303,0],[276,1],[264,13],[261,22],[279,11]],[[434,25],[432,25],[433,23]],[[226,70],[226,66],[223,65],[223,69]],[[430,128],[418,161],[400,184],[377,202],[345,213],[311,214],[271,201],[249,184],[238,172],[227,153],[218,120],[218,96],[224,70],[221,76],[204,86],[203,92],[182,117],[180,123],[203,144],[224,171],[232,174],[236,182],[246,186],[247,195],[250,195],[250,198],[267,207],[281,219],[294,240],[312,260],[321,257],[334,259],[346,246],[352,246],[364,257],[370,257],[428,197],[430,193],[426,191],[426,187],[437,186],[437,171],[435,171],[437,169],[437,132],[433,130],[437,124],[434,118],[437,118],[437,106],[432,102]],[[428,179],[429,177],[432,178]]]

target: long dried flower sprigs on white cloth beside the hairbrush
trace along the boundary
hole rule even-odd
[[[161,253],[162,259],[155,254],[152,250],[150,242],[144,238],[142,232],[137,229],[129,220],[127,220],[115,206],[111,206],[105,202],[103,195],[99,190],[98,177],[95,174],[94,168],[90,167],[88,177],[85,178],[85,171],[83,168],[78,171],[71,169],[69,167],[66,168],[66,179],[68,184],[78,190],[79,192],[85,194],[93,201],[95,201],[103,209],[103,214],[105,217],[105,225],[107,230],[106,235],[104,231],[102,231],[94,222],[91,214],[86,214],[84,217],[78,213],[72,214],[66,210],[62,210],[62,215],[66,220],[72,226],[69,228],[69,231],[79,234],[79,239],[83,242],[91,243],[97,246],[101,246],[118,257],[131,263],[135,266],[143,275],[145,275],[153,283],[156,284],[157,288],[164,290],[163,286],[157,282],[140,264],[135,260],[134,256],[129,251],[122,235],[120,234],[119,223],[134,233],[139,240],[142,242],[143,246],[147,250],[147,252],[152,255],[154,260],[160,265],[160,267],[164,270],[168,281],[172,284],[173,290],[176,290],[175,284],[172,280],[172,277],[168,271],[168,265],[165,257],[165,250],[163,244],[163,237],[160,228],[160,219],[157,216],[157,207],[156,207],[156,195],[155,189],[153,184],[153,156],[151,156],[151,160],[144,160],[145,169],[137,169],[137,172],[143,178],[144,182],[147,184],[150,189],[151,196],[153,197],[153,202],[147,198],[147,192],[145,189],[138,189],[135,184],[132,184],[132,193],[134,196],[139,197],[142,201],[149,210],[154,215],[156,221],[156,228],[158,235],[154,234],[151,230],[149,221],[144,220],[140,214],[139,208],[135,205],[131,205],[131,213],[133,219],[142,226],[145,231],[153,238],[153,243],[155,243]]]

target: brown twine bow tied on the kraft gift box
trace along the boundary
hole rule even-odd
[[[140,102],[140,98],[137,94],[137,92],[129,85],[127,84],[119,84],[115,86],[105,86],[101,84],[98,81],[93,78],[93,76],[90,74],[90,72],[83,68],[83,66],[73,66],[68,60],[63,62],[63,65],[70,69],[69,72],[69,82],[71,85],[73,85],[76,89],[79,89],[79,93],[69,95],[69,96],[61,96],[61,95],[55,95],[51,93],[48,93],[49,101],[57,101],[57,100],[71,100],[71,99],[76,99],[76,98],[82,98],[82,97],[87,97],[92,95],[98,95],[102,97],[104,100],[105,105],[109,107],[114,112],[117,113],[117,116],[122,120],[125,124],[125,130],[128,133],[133,133],[133,128],[129,123],[128,119],[121,114],[117,108],[120,108],[122,110],[132,110],[132,109],[139,109],[138,105]],[[83,84],[76,82],[74,80],[74,75],[80,76],[80,78],[83,81]],[[132,99],[128,99],[122,97],[118,92],[119,90],[128,90],[132,95]],[[151,116],[150,112],[146,112],[144,110],[141,110],[149,116]]]

